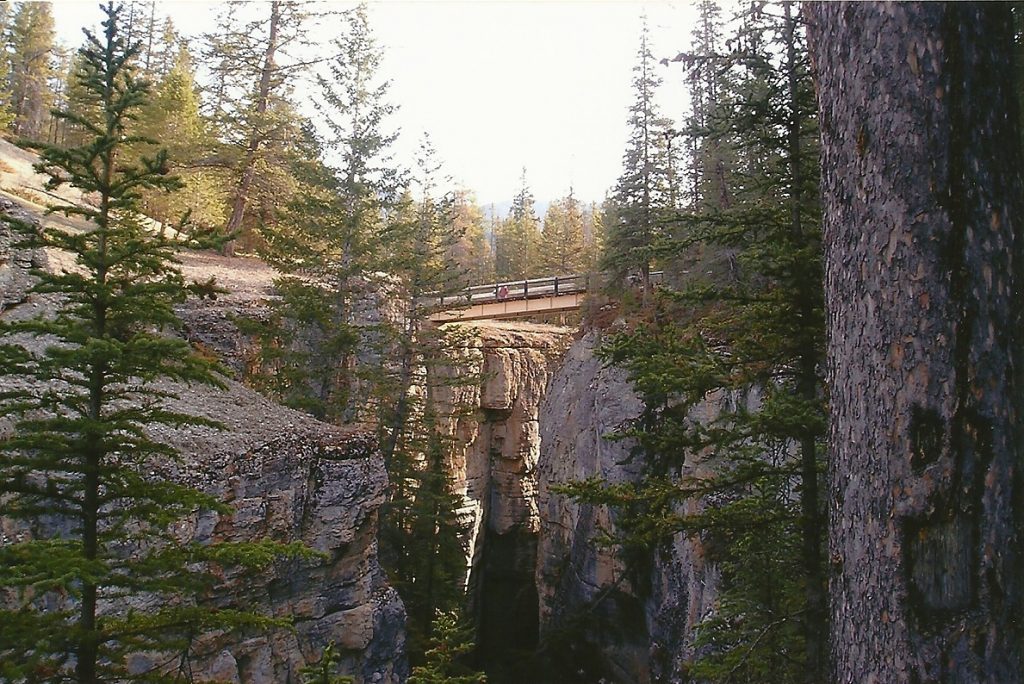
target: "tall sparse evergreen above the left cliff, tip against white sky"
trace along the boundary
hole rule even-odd
[[[387,83],[377,83],[380,49],[364,7],[346,19],[331,79],[319,79],[331,138],[322,143],[305,129],[293,165],[302,191],[260,233],[265,258],[287,275],[276,283],[282,297],[262,333],[256,378],[289,405],[336,422],[374,413],[354,368],[356,347],[373,331],[357,325],[354,307],[387,295],[381,237],[400,181],[389,158],[395,135],[384,130],[393,106]],[[319,161],[323,147],[339,168]]]

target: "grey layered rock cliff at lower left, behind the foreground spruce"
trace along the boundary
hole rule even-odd
[[[33,217],[6,201],[0,210]],[[47,256],[52,266],[60,255],[24,252],[0,222],[0,315],[45,313],[54,302],[28,293],[26,270],[45,267]],[[202,320],[191,319],[199,326],[197,336]],[[404,608],[377,559],[377,512],[386,475],[369,433],[318,423],[233,381],[223,389],[163,389],[178,395],[172,401],[175,410],[224,426],[154,430],[182,457],[176,464],[154,464],[155,472],[214,494],[232,509],[226,515],[206,513],[183,520],[178,532],[199,542],[299,540],[324,554],[316,561],[281,562],[255,580],[225,576],[213,592],[214,604],[287,617],[294,630],[198,641],[191,664],[196,680],[298,682],[299,669],[317,661],[324,647],[335,642],[342,656],[340,671],[357,682],[403,681]],[[9,429],[0,424],[0,436]],[[0,519],[0,544],[54,531]]]

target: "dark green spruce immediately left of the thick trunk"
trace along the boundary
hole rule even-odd
[[[715,173],[732,200],[677,217],[677,259],[728,249],[733,272],[664,291],[652,315],[609,336],[644,401],[626,434],[647,477],[587,496],[624,511],[635,553],[684,530],[722,572],[717,611],[698,630],[693,676],[820,682],[827,639],[818,479],[825,426],[816,114],[802,19],[791,3],[754,7],[728,55],[732,72],[706,121],[735,161]],[[753,32],[753,33],[752,33]],[[756,35],[755,35],[756,34]],[[768,123],[765,123],[765,122]],[[671,260],[672,257],[666,256]],[[718,397],[715,399],[714,397]],[[702,402],[720,404],[700,422]],[[679,504],[700,503],[681,515]]]

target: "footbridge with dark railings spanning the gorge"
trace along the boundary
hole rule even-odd
[[[651,272],[651,283],[662,281],[662,271]],[[587,294],[586,273],[556,275],[527,281],[475,285],[461,293],[437,296],[434,323],[520,318],[542,313],[562,313],[580,308]]]

